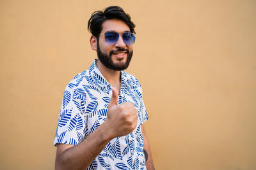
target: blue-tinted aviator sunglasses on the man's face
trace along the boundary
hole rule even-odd
[[[106,32],[104,34],[106,43],[108,43],[109,45],[115,45],[115,43],[118,41],[120,34],[126,45],[132,45],[135,42],[135,34],[131,32]]]

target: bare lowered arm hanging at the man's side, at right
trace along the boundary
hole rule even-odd
[[[145,129],[143,127],[143,125],[141,125],[141,132],[142,132],[142,136],[143,136],[143,149],[146,150],[146,152],[148,153],[148,159],[146,161],[146,167],[148,170],[154,170],[154,163],[153,163],[153,159],[152,159],[152,155],[151,155],[151,150],[150,150],[150,145],[148,143],[148,139],[145,133]]]

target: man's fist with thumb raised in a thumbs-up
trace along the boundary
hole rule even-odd
[[[134,104],[127,102],[118,105],[118,92],[115,88],[112,88],[108,116],[105,121],[108,124],[108,132],[111,138],[131,133],[136,128],[137,120],[138,115]]]

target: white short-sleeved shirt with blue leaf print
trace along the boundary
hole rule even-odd
[[[141,85],[137,78],[124,71],[120,72],[120,77],[118,104],[134,104],[138,110],[137,127],[126,136],[112,139],[88,169],[146,169],[141,125],[148,120],[148,115]],[[94,60],[92,66],[77,74],[65,89],[54,145],[77,145],[92,134],[106,120],[111,96],[111,85]]]

